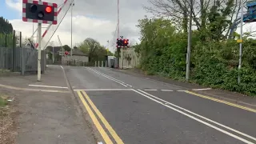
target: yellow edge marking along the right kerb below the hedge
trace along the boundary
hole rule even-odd
[[[202,95],[202,94],[196,94],[196,93],[193,93],[193,92],[191,92],[191,91],[185,91],[185,92],[186,92],[187,94],[192,94],[192,95],[198,96],[198,97],[200,97],[200,98],[206,98],[206,99],[212,100],[212,101],[214,101],[214,102],[220,102],[220,103],[223,103],[223,104],[226,104],[226,105],[229,105],[229,106],[234,106],[234,107],[240,108],[240,109],[242,109],[242,110],[248,110],[248,111],[250,111],[250,112],[256,113],[256,110],[250,109],[250,108],[245,107],[245,106],[239,106],[239,105],[237,105],[237,104],[234,104],[234,103],[231,103],[231,102],[222,101],[222,100],[217,99],[217,98],[210,98],[210,97],[208,97],[208,96],[205,96],[205,95]]]

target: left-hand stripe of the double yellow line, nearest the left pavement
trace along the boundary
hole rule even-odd
[[[87,110],[88,114],[90,115],[90,118],[94,122],[94,125],[98,129],[99,133],[102,135],[102,138],[104,139],[104,141],[106,143],[113,144],[113,142],[110,140],[110,137],[106,134],[106,131],[101,126],[100,122],[98,122],[98,119],[94,115],[94,112],[90,109],[90,106],[86,102],[85,98],[82,97],[81,91],[78,91],[77,93],[78,93],[79,98],[82,101],[82,104],[86,107],[86,110]]]

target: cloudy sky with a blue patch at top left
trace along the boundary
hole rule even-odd
[[[68,0],[71,2],[71,0]],[[148,0],[119,0],[120,4],[120,35],[124,38],[129,38],[130,42],[139,42],[140,34],[136,27],[138,19],[144,18],[145,15],[152,16],[146,13],[142,6],[150,6]],[[64,0],[46,0],[46,2],[56,2],[62,4]],[[117,22],[118,22],[118,0],[74,0],[73,7],[73,46],[78,46],[79,43],[86,38],[94,38],[107,46],[113,52],[115,50],[115,41],[117,38]],[[62,10],[62,14],[64,13]],[[58,30],[51,38],[55,46],[60,46],[58,36],[62,45],[71,43],[71,10],[69,10],[63,19]],[[36,23],[22,22],[22,0],[0,0],[0,16],[7,18],[14,26],[14,30],[22,31],[23,38],[30,37],[37,28]],[[61,18],[61,17],[58,17]],[[254,23],[246,25],[244,32],[255,30]],[[46,25],[43,25],[42,32],[46,30]],[[54,29],[54,26],[52,26]],[[239,33],[239,28],[237,30]],[[48,37],[50,38],[50,30]],[[47,39],[44,38],[44,39]],[[114,40],[114,41],[113,41]],[[107,42],[109,41],[109,43]]]

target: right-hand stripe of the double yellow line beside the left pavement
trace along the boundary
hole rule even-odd
[[[122,139],[119,138],[118,134],[114,131],[114,129],[112,128],[112,126],[110,126],[109,122],[106,121],[106,118],[104,118],[104,116],[102,115],[102,113],[98,110],[98,108],[94,105],[94,102],[92,102],[89,98],[89,96],[86,94],[85,91],[82,91],[82,94],[86,97],[86,100],[90,103],[90,106],[92,107],[92,109],[95,111],[95,113],[98,115],[98,118],[101,119],[102,123],[104,124],[104,126],[106,127],[107,130],[109,130],[110,134],[112,135],[112,137],[114,138],[114,140],[118,143],[118,144],[124,144],[122,142]]]

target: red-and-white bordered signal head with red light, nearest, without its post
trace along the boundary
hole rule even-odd
[[[22,2],[22,20],[23,22],[37,22],[46,24],[57,24],[56,3],[38,2],[23,0]]]

